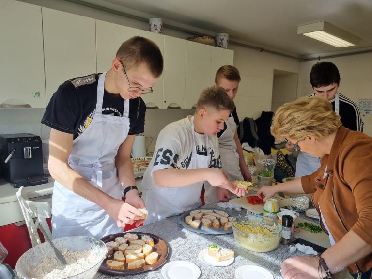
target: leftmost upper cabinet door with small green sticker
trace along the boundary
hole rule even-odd
[[[0,0],[0,84],[3,106],[46,107],[41,7]]]

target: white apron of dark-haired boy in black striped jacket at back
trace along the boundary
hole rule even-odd
[[[315,93],[313,94],[315,96]],[[335,112],[340,115],[339,93],[335,94]],[[295,177],[302,177],[314,173],[320,168],[320,158],[306,152],[300,152],[296,161]]]

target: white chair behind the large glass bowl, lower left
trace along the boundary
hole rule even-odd
[[[30,201],[29,195],[25,187],[20,187],[16,193],[17,199],[22,209],[23,216],[29,235],[32,247],[41,243],[37,228],[42,226],[49,238],[52,238],[46,218],[51,217],[50,204],[48,202]],[[44,236],[45,237],[45,236]]]

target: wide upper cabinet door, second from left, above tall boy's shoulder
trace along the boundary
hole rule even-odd
[[[64,81],[96,72],[95,20],[44,7],[42,12],[48,103]]]

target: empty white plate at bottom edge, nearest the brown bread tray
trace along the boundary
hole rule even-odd
[[[194,263],[173,261],[163,266],[161,275],[165,279],[198,279],[200,268]]]

